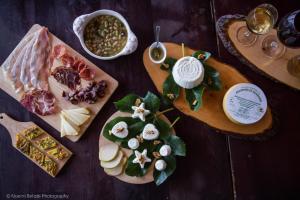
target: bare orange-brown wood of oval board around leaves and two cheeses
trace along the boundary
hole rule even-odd
[[[181,46],[174,43],[164,43],[167,48],[167,56],[179,59],[181,58]],[[144,51],[143,61],[145,68],[150,75],[157,90],[163,92],[163,82],[166,80],[169,72],[161,70],[159,64],[154,64],[149,58],[149,48]],[[192,55],[195,50],[185,48],[185,55]],[[231,122],[223,111],[223,97],[226,91],[237,83],[249,82],[242,74],[233,67],[226,65],[210,57],[206,61],[220,73],[223,88],[221,91],[205,90],[203,95],[203,105],[196,112],[190,109],[185,101],[184,90],[181,90],[179,98],[174,102],[174,106],[184,114],[200,120],[209,126],[216,128],[222,133],[230,132],[239,135],[258,135],[264,133],[272,127],[272,114],[268,107],[265,116],[257,123],[251,125],[239,125]]]

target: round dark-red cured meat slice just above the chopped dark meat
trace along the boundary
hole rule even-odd
[[[79,73],[71,67],[56,67],[51,75],[61,84],[68,86],[71,90],[75,90],[80,85]]]

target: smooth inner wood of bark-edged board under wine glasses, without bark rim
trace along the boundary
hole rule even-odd
[[[300,49],[286,47],[285,53],[277,58],[270,58],[262,51],[262,41],[270,35],[277,35],[277,31],[272,29],[265,35],[259,35],[252,46],[244,46],[237,41],[236,33],[240,27],[246,26],[245,21],[233,20],[227,26],[227,35],[232,45],[248,62],[265,75],[282,82],[292,88],[300,89],[300,78],[291,75],[287,70],[288,60],[296,55],[300,55]]]

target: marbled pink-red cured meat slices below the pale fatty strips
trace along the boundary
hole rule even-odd
[[[55,112],[55,101],[49,91],[32,90],[25,93],[20,102],[28,111],[45,116]]]

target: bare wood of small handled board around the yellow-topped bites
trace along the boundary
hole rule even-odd
[[[12,118],[10,118],[8,115],[6,115],[4,113],[0,113],[0,124],[8,130],[9,135],[11,137],[13,147],[16,148],[20,153],[22,153],[28,159],[30,159],[32,162],[34,162],[41,169],[43,169],[46,173],[48,173],[35,160],[31,159],[28,155],[24,154],[22,151],[20,151],[16,147],[16,135],[18,133],[24,131],[27,128],[37,126],[37,125],[33,122],[19,122],[19,121],[13,120]],[[55,162],[57,163],[58,168],[57,168],[56,173],[54,175],[48,173],[49,175],[55,177],[59,173],[59,171],[63,168],[63,166],[68,162],[68,160],[71,158],[73,153],[69,149],[67,149],[65,146],[60,144],[57,140],[55,140],[55,138],[53,138],[51,135],[49,135],[46,132],[43,133],[43,135],[38,136],[36,139],[30,140],[30,141],[33,144],[33,146],[37,147],[37,145],[34,142],[36,142],[36,141],[38,141],[38,140],[40,140],[44,137],[50,137],[52,140],[54,140],[56,142],[57,146],[62,147],[68,153],[68,157],[64,158],[63,160],[57,160],[53,156],[51,156],[50,154],[47,154],[45,150],[40,149],[43,152],[43,154],[49,156],[52,160],[55,160]]]

